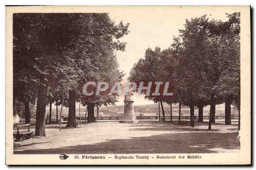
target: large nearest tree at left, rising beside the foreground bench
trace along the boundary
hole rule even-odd
[[[63,18],[62,18],[63,17]],[[13,15],[13,58],[23,61],[23,70],[38,85],[36,103],[36,136],[45,134],[45,107],[47,91],[51,81],[56,81],[61,65],[69,65],[69,58],[63,57],[63,51],[72,39],[67,35],[60,37],[64,26],[60,22],[63,14],[17,13]],[[15,70],[16,68],[14,68]],[[34,89],[35,86],[33,87]]]

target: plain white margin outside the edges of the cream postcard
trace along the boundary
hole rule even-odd
[[[165,0],[147,0],[147,1],[138,1],[138,0],[129,0],[129,1],[120,1],[120,0],[112,0],[112,1],[106,1],[106,0],[94,0],[94,1],[79,1],[79,0],[72,0],[68,2],[64,2],[63,0],[55,0],[55,1],[48,1],[48,0],[37,0],[37,1],[29,1],[29,0],[23,0],[23,1],[18,1],[18,0],[10,0],[10,1],[1,1],[1,6],[0,6],[0,21],[1,21],[1,27],[0,27],[0,50],[2,57],[0,58],[0,78],[1,80],[5,80],[5,7],[4,5],[252,5],[252,8],[255,7],[255,1],[253,0],[243,0],[243,1],[238,1],[238,0],[232,0],[232,1],[221,1],[221,0],[215,0],[215,1],[200,1],[200,0],[194,0],[194,1],[188,1],[188,0],[179,0],[179,1],[165,1]],[[255,8],[254,8],[254,13],[255,13]],[[255,17],[252,18],[253,20],[251,21],[252,23],[255,23]],[[254,24],[253,24],[254,25]],[[255,33],[255,26],[253,26],[252,32]],[[255,40],[255,37],[252,37],[253,40]],[[255,49],[255,43],[252,44],[253,49]],[[253,58],[253,56],[252,56]],[[253,65],[255,65],[255,59],[253,61]],[[255,84],[255,69],[252,70],[254,73],[254,81],[253,83]],[[2,114],[1,114],[1,123],[5,124],[5,81],[2,81],[0,84],[1,86],[1,93],[0,93],[0,104],[2,108]],[[255,92],[253,93],[253,96],[255,96]],[[252,96],[252,97],[253,97]],[[252,105],[255,105],[256,102],[254,101]],[[255,112],[255,107],[252,111],[252,113]],[[252,121],[255,121],[255,116]],[[1,135],[2,135],[2,140],[1,140],[1,160],[3,161],[1,164],[1,169],[6,168],[7,166],[4,166],[4,161],[5,161],[5,129],[4,126],[1,126]],[[255,156],[254,160],[252,160],[255,163]],[[17,167],[15,167],[17,168]],[[28,168],[28,167],[24,167]],[[48,167],[50,168],[50,167]],[[63,168],[63,167],[59,167]],[[113,167],[109,167],[113,168]],[[119,167],[120,168],[120,167]],[[147,167],[148,168],[148,167]],[[169,168],[169,167],[166,167]],[[184,169],[187,167],[183,167]],[[198,168],[198,167],[194,167]],[[234,166],[232,167],[225,167],[225,168],[236,168]]]

